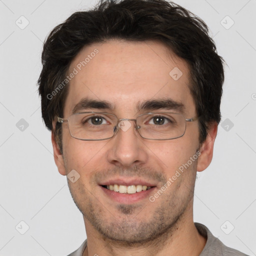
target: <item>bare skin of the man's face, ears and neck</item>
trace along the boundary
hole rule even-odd
[[[116,39],[95,43],[77,54],[69,70],[95,48],[99,50],[96,56],[70,81],[61,117],[67,118],[83,97],[110,101],[115,106],[111,113],[118,118],[136,118],[140,114],[135,109],[138,102],[164,97],[183,103],[186,118],[196,116],[188,87],[188,66],[163,44]],[[176,81],[169,75],[174,67],[183,73]],[[100,111],[89,109],[93,110]],[[198,121],[187,122],[185,134],[171,140],[143,139],[133,121],[131,124],[127,131],[120,129],[111,139],[83,141],[71,137],[68,124],[62,123],[63,154],[52,133],[59,173],[66,175],[75,169],[80,175],[74,183],[67,180],[86,227],[83,256],[199,255],[206,240],[193,223],[193,189],[196,171],[204,170],[212,159],[217,123],[209,125],[202,145]],[[144,198],[120,204],[106,196],[98,185],[101,177],[142,177],[156,184],[155,193],[198,148],[198,159],[154,202]]]

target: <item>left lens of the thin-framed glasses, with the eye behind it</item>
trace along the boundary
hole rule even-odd
[[[84,140],[112,137],[116,122],[116,116],[106,113],[76,113],[68,118],[71,136]]]

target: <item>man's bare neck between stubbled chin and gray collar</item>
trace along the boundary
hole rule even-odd
[[[85,218],[84,223],[87,247],[82,256],[198,256],[206,243],[206,239],[198,233],[192,216],[182,215],[175,225],[165,233],[154,240],[137,244],[110,240],[95,231],[94,227]]]

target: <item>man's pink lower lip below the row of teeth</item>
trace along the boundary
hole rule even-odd
[[[114,200],[116,202],[119,202],[119,203],[126,203],[126,204],[134,203],[134,202],[137,202],[137,201],[142,200],[144,198],[148,198],[149,194],[153,192],[154,188],[156,188],[154,186],[154,187],[151,187],[147,190],[142,190],[140,192],[135,192],[135,193],[129,194],[129,193],[115,192],[115,191],[109,190],[109,189],[107,189],[103,186],[100,186],[100,187],[101,187],[102,191],[108,197],[110,197],[112,200]]]

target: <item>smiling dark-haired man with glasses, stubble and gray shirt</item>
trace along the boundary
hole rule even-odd
[[[50,32],[42,116],[87,235],[69,255],[245,255],[193,222],[222,63],[205,23],[164,0],[101,1]]]

